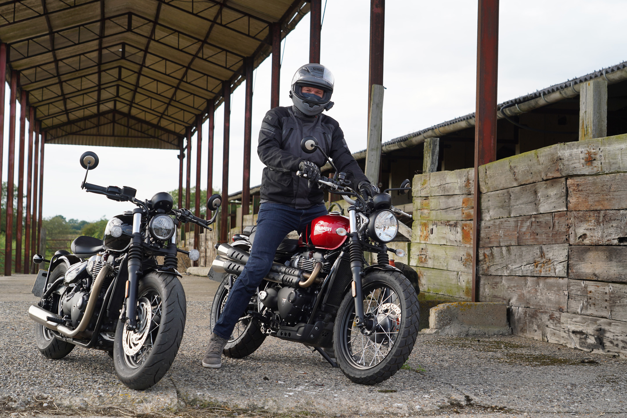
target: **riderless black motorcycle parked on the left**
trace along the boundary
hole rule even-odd
[[[142,202],[132,187],[87,183],[89,170],[98,165],[93,152],[85,152],[80,164],[87,170],[82,189],[137,208],[112,217],[102,240],[80,236],[71,244],[72,253],[56,251],[50,260],[33,256],[36,264],[50,263],[33,286],[41,300],[28,310],[37,323],[37,347],[47,358],[63,358],[76,346],[106,351],[122,383],[146,389],[172,365],[185,328],[177,252],[199,258],[196,249],[176,248],[175,219],[211,231],[221,197],[208,199],[208,209],[215,212],[204,220],[187,209],[172,209],[174,201],[166,192]]]

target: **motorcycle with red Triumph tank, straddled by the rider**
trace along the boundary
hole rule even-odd
[[[303,138],[301,148],[308,154],[322,152],[314,137]],[[387,255],[404,256],[404,251],[386,246],[398,233],[396,215],[409,216],[392,206],[386,192],[405,194],[411,188],[404,180],[398,189],[364,197],[350,189],[344,173],[335,173],[334,178],[321,177],[318,187],[342,195],[350,204],[348,216],[329,212],[314,219],[300,239],[283,239],[224,355],[246,357],[271,335],[303,343],[353,382],[372,385],[403,366],[418,335],[418,295]],[[246,227],[231,245],[218,246],[208,274],[221,281],[211,308],[212,329],[254,240],[255,227]],[[364,251],[375,253],[377,262],[367,264]]]

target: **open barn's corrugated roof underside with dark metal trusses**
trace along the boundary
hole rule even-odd
[[[308,11],[305,0],[9,0],[0,41],[47,142],[177,149],[223,83],[244,80],[246,58],[270,55],[271,25],[284,37]]]

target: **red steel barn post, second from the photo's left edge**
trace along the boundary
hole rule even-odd
[[[13,177],[15,175],[15,114],[18,79],[18,71],[11,71],[11,97],[9,98],[9,164],[6,177],[6,241],[4,245],[5,276],[11,276],[11,258],[13,257]]]

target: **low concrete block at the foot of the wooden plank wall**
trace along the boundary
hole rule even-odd
[[[441,303],[429,310],[429,328],[423,333],[460,337],[509,335],[507,306],[503,303]]]

